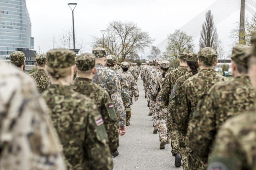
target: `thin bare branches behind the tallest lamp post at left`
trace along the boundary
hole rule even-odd
[[[83,39],[77,40],[75,37],[75,44],[78,49],[80,49],[79,53],[81,54],[85,48],[85,44]],[[73,49],[73,30],[62,30],[62,34],[59,35],[59,39],[56,40],[56,37],[53,36],[53,48],[64,48],[64,49]]]

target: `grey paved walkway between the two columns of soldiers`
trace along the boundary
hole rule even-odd
[[[171,144],[166,144],[164,150],[159,149],[158,134],[153,134],[152,117],[144,98],[143,81],[139,77],[139,100],[133,102],[131,125],[127,132],[119,137],[119,156],[113,158],[115,170],[182,170],[174,166],[171,154]]]

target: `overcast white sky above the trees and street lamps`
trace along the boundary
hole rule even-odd
[[[59,38],[62,30],[72,27],[72,12],[67,3],[77,3],[74,11],[77,39],[83,39],[86,52],[91,52],[92,36],[102,36],[112,20],[133,21],[155,39],[158,45],[168,33],[181,28],[216,0],[27,0],[32,22],[35,50],[46,53],[53,48],[53,36]],[[247,14],[247,13],[246,13]],[[219,38],[227,51],[232,42],[230,30],[239,21],[240,12],[217,25]],[[203,24],[203,23],[202,23]],[[198,46],[199,38],[195,40]]]

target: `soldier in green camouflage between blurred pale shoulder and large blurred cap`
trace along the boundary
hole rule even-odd
[[[38,70],[30,74],[30,76],[36,80],[38,91],[43,93],[50,85],[50,77],[46,72],[47,55],[41,54],[36,56],[36,65]]]

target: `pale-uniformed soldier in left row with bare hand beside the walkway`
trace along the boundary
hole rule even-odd
[[[129,64],[127,62],[121,62],[121,68],[122,71],[119,72],[122,77],[125,78],[127,81],[128,87],[129,87],[129,95],[131,99],[131,105],[133,104],[133,96],[134,101],[136,102],[139,98],[139,89],[137,86],[137,82],[134,79],[134,77],[131,75],[131,73],[128,71]],[[131,119],[131,108],[126,110],[127,118],[126,118],[126,124],[130,125],[130,119]]]

